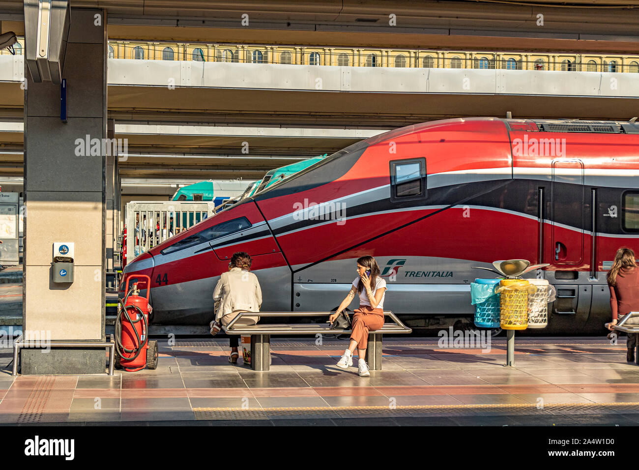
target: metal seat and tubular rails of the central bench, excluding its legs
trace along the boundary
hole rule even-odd
[[[331,315],[333,312],[323,312],[323,311],[280,311],[280,312],[275,312],[275,311],[267,311],[267,312],[252,312],[252,311],[247,311],[247,312],[240,312],[235,318],[233,318],[233,320],[231,320],[231,322],[229,322],[228,325],[226,325],[224,327],[224,331],[227,334],[259,334],[259,331],[263,331],[263,333],[265,334],[288,334],[288,333],[304,333],[304,334],[314,334],[314,333],[350,333],[350,329],[331,329],[330,327],[317,327],[315,326],[313,327],[309,327],[309,329],[278,329],[278,325],[273,325],[272,327],[270,327],[270,325],[259,325],[259,331],[258,329],[242,329],[243,326],[254,326],[254,325],[240,325],[240,328],[236,328],[235,324],[236,322],[238,322],[238,320],[240,320],[240,318],[242,317],[318,317],[322,314],[324,315]],[[393,322],[394,325],[397,327],[397,329],[386,329],[384,330],[385,327],[387,326],[392,326],[392,324],[384,324],[383,327],[381,327],[380,329],[376,330],[376,333],[412,333],[412,329],[407,327],[406,325],[403,324],[403,322],[401,322],[401,320],[399,320],[399,318],[397,318],[397,316],[392,313],[392,311],[387,310],[384,311],[384,315],[389,317]],[[316,324],[317,325],[317,324]]]

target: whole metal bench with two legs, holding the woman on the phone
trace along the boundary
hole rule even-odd
[[[270,370],[271,357],[271,335],[272,334],[351,334],[350,329],[331,329],[327,323],[310,324],[286,324],[286,325],[236,325],[242,317],[259,315],[259,317],[318,317],[323,312],[243,312],[233,318],[231,322],[222,327],[226,334],[250,335],[250,366],[252,370]],[[368,347],[366,349],[366,362],[370,370],[381,370],[381,335],[394,333],[411,333],[412,329],[406,327],[392,311],[384,311],[384,315],[389,317],[393,323],[385,323],[383,327],[376,331],[371,331],[368,335]],[[352,319],[352,316],[351,316]],[[328,315],[327,315],[328,320]]]

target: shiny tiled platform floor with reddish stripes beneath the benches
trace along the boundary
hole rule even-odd
[[[639,366],[605,339],[440,349],[385,338],[383,370],[335,366],[346,341],[273,339],[268,372],[229,364],[227,340],[160,343],[155,371],[114,377],[10,375],[1,350],[0,423],[187,425],[639,425]],[[355,361],[357,364],[357,360]]]

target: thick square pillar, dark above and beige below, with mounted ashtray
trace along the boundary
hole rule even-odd
[[[71,10],[66,123],[60,86],[33,82],[25,68],[24,333],[44,332],[52,343],[105,339],[105,155],[102,145],[86,155],[86,139],[107,137],[106,20],[105,10]],[[73,283],[52,281],[54,242],[75,244]],[[24,375],[105,372],[104,349],[21,354]]]

